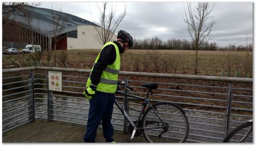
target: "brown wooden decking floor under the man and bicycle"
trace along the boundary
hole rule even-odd
[[[85,125],[62,122],[36,120],[3,133],[3,143],[83,143]],[[114,139],[117,143],[129,142],[131,135],[115,130]],[[98,128],[96,142],[105,143],[102,129]],[[132,142],[146,142],[144,137],[135,137]]]

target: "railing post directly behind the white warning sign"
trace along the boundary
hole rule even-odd
[[[47,115],[48,122],[53,119],[53,98],[52,98],[52,90],[49,90],[49,72],[47,71]]]

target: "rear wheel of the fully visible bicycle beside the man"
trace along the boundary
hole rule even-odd
[[[189,122],[183,110],[175,104],[157,103],[146,110],[142,118],[147,142],[181,143],[189,134]]]

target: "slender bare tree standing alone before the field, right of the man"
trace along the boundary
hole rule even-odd
[[[194,9],[191,5],[191,3],[187,4],[188,9],[187,11],[185,10],[184,21],[188,24],[188,32],[196,48],[195,74],[197,74],[199,46],[210,35],[211,29],[216,22],[213,20],[213,16],[210,16],[213,6],[210,7],[209,3],[199,2],[197,6],[194,6]]]

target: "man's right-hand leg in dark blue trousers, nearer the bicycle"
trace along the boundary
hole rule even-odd
[[[115,103],[115,94],[109,94],[108,96],[109,101],[107,102],[107,107],[105,113],[102,117],[102,128],[103,128],[103,135],[106,139],[106,142],[113,142],[114,139],[112,138],[114,135],[114,127],[111,124],[112,112]]]

